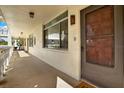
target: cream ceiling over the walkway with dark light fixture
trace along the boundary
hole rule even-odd
[[[64,5],[4,5],[0,6],[12,36],[18,37],[21,32],[25,36],[36,25],[44,23],[56,16],[57,13],[67,9]],[[35,13],[34,18],[29,12]]]

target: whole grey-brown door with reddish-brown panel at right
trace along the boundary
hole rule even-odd
[[[82,78],[103,87],[123,86],[123,7],[81,10]]]

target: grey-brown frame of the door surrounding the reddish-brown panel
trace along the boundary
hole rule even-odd
[[[114,6],[114,51],[115,51],[115,67],[109,68],[98,66],[86,62],[86,33],[85,33],[85,14],[104,6],[89,6],[80,11],[81,17],[81,78],[85,78],[102,87],[123,87],[123,56],[124,56],[124,40],[123,40],[123,6]],[[94,70],[88,70],[88,69]],[[104,71],[105,70],[105,71]],[[97,71],[97,72],[95,72]],[[101,72],[105,72],[100,74]],[[93,75],[94,74],[94,75]],[[108,74],[108,76],[107,76]],[[115,75],[116,74],[116,75]],[[106,76],[106,77],[105,77]],[[105,77],[105,78],[103,78]],[[112,80],[110,80],[112,79]],[[118,82],[115,82],[118,81]],[[116,84],[115,84],[116,83]]]

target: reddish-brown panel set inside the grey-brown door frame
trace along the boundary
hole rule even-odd
[[[114,66],[114,8],[106,6],[85,14],[86,62]]]

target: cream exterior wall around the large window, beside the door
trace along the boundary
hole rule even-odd
[[[34,27],[31,33],[36,36],[36,46],[29,48],[29,53],[44,62],[79,80],[81,71],[80,51],[80,10],[86,6],[68,7],[68,50],[55,50],[42,47],[42,23]],[[70,15],[75,14],[76,24],[70,25]],[[57,14],[58,15],[58,14]],[[54,17],[53,17],[54,18]],[[27,35],[28,36],[28,35]],[[76,41],[74,40],[76,38]]]

